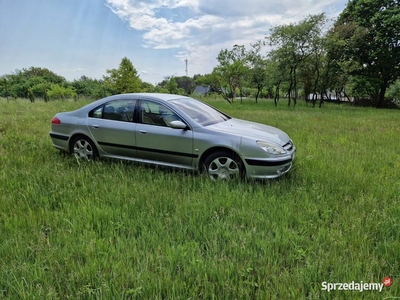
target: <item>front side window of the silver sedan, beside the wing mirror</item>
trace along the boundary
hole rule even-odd
[[[140,107],[140,117],[143,124],[156,126],[171,126],[172,121],[181,120],[171,109],[163,104],[143,100]]]

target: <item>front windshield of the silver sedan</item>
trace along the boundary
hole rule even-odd
[[[171,102],[202,126],[217,124],[230,119],[229,116],[195,99],[181,98]]]

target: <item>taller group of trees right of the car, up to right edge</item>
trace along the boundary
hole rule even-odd
[[[352,0],[327,26],[324,14],[276,26],[246,49],[223,49],[218,65],[202,78],[227,101],[251,93],[275,104],[298,99],[342,99],[383,107],[400,99],[400,5],[398,0]],[[267,53],[263,50],[268,48]],[[389,103],[388,103],[389,102]]]

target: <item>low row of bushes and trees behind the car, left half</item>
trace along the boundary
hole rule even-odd
[[[0,97],[26,98],[33,102],[36,99],[98,99],[133,92],[190,95],[195,86],[195,80],[187,76],[168,77],[156,85],[144,82],[139,78],[132,62],[124,57],[118,68],[106,70],[102,79],[81,76],[71,82],[46,68],[16,70],[0,77]]]

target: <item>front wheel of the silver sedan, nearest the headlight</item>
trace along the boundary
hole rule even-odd
[[[234,152],[214,152],[205,159],[204,167],[212,181],[238,179],[245,175],[242,160]]]

